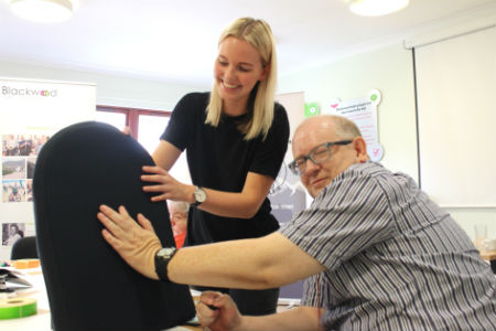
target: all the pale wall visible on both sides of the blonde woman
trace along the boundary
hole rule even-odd
[[[321,107],[325,107],[334,97],[347,100],[364,97],[373,88],[379,89],[382,100],[378,106],[378,129],[379,141],[385,150],[381,162],[392,171],[406,172],[418,180],[412,66],[411,51],[399,44],[391,45],[280,77],[278,93],[303,92],[306,103],[316,102]],[[209,85],[190,86],[1,61],[0,73],[6,77],[96,83],[99,105],[160,110],[172,110],[185,93],[211,88]],[[292,129],[298,124],[292,120]],[[471,237],[474,237],[474,224],[477,222],[486,223],[489,237],[496,237],[494,209],[446,211]]]

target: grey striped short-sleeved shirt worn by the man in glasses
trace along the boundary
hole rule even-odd
[[[326,329],[496,330],[490,268],[406,174],[353,164],[280,232],[327,269],[302,300]]]

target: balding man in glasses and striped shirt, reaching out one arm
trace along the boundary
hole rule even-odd
[[[263,289],[308,278],[303,305],[240,316],[229,297],[197,306],[212,330],[495,330],[496,280],[450,215],[411,178],[370,162],[358,128],[306,119],[290,168],[314,197],[280,231],[175,252],[150,222],[103,205],[105,239],[142,275],[181,284]],[[176,254],[175,254],[176,253]]]

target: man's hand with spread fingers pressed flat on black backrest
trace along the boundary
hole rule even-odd
[[[150,221],[138,214],[139,224],[136,223],[123,206],[119,206],[117,212],[109,206],[100,205],[97,216],[105,226],[101,234],[107,243],[134,270],[148,278],[159,279],[154,257],[162,248],[162,244]]]

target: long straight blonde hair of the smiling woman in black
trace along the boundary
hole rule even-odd
[[[254,139],[259,135],[262,135],[265,139],[272,126],[278,74],[272,31],[262,20],[241,18],[224,30],[218,43],[220,44],[228,36],[235,36],[251,44],[260,54],[262,67],[269,66],[266,78],[258,82],[251,92],[247,120],[238,125],[238,129],[245,135],[245,140]],[[223,100],[218,94],[217,82],[214,79],[205,122],[216,127],[220,120],[222,107]]]

